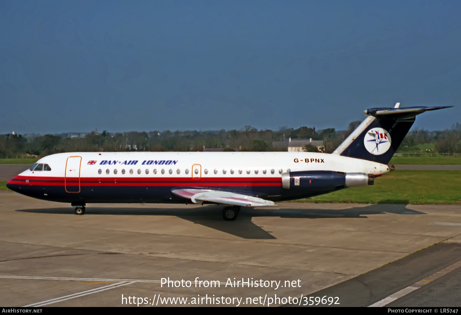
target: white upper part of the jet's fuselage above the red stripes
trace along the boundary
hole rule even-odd
[[[41,158],[37,163],[47,163],[51,171],[47,176],[65,176],[68,157],[82,157],[80,177],[193,177],[193,165],[201,166],[201,174],[197,177],[280,177],[287,171],[333,170],[344,173],[365,173],[383,175],[389,172],[385,164],[366,160],[342,157],[336,154],[313,152],[71,152],[58,153]],[[89,161],[96,161],[89,164]],[[103,163],[107,161],[107,163]],[[108,161],[111,163],[108,164]],[[115,161],[115,163],[114,163]],[[127,165],[129,161],[136,164]],[[149,161],[152,163],[148,164]],[[165,161],[162,164],[160,161]],[[171,161],[169,164],[168,161]],[[125,163],[126,162],[126,163]],[[124,164],[125,163],[125,164]],[[101,169],[102,174],[98,174]],[[122,174],[125,169],[125,174]],[[130,174],[130,169],[133,174]],[[154,169],[157,174],[154,174]],[[162,174],[161,170],[165,173]],[[172,174],[169,170],[172,170]],[[274,169],[274,174],[271,170]],[[109,174],[106,171],[109,170]],[[117,170],[117,174],[114,174]],[[138,174],[141,170],[141,174]],[[149,172],[146,173],[146,170]],[[177,172],[179,170],[179,173]],[[186,174],[189,170],[189,174]],[[217,171],[215,173],[215,170]],[[231,173],[231,170],[234,173]],[[242,174],[239,174],[242,170]],[[266,170],[266,174],[263,174]],[[280,170],[282,170],[280,172]],[[225,173],[224,173],[225,171]],[[255,174],[255,171],[258,173]],[[22,176],[42,176],[45,172],[24,171]]]

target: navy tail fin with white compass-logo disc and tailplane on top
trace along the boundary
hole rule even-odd
[[[400,105],[400,103],[397,103]],[[371,108],[368,115],[333,154],[387,164],[402,143],[416,115],[453,106]]]

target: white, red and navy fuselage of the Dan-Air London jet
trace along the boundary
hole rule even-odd
[[[44,165],[43,170],[26,170],[7,186],[31,197],[72,204],[182,203],[181,196],[197,189],[292,200],[349,187],[344,179],[339,184],[329,180],[336,173],[376,177],[389,172],[385,164],[312,152],[71,152],[43,157],[37,163]],[[290,187],[290,174],[299,182],[296,172],[302,171],[309,173],[307,177],[314,174],[308,187],[285,189]],[[335,174],[325,175],[326,171]],[[352,180],[346,179],[346,184]],[[217,194],[213,198],[220,198]]]

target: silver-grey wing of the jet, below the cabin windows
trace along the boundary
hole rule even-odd
[[[275,205],[274,202],[262,198],[212,189],[174,189],[171,192],[179,197],[190,199],[195,204],[202,204],[204,201],[207,201],[216,204],[232,204],[242,207]]]

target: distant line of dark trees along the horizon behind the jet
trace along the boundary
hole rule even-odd
[[[337,131],[326,128],[315,131],[307,126],[301,128],[281,127],[277,130],[257,130],[245,126],[240,130],[217,131],[151,131],[102,133],[91,132],[84,135],[45,134],[23,136],[6,134],[0,136],[0,158],[24,157],[24,155],[44,157],[60,152],[125,152],[125,151],[203,151],[204,148],[222,148],[224,151],[287,151],[286,146],[273,146],[274,141],[291,139],[322,140],[322,152],[331,153],[354,131],[360,121],[351,122],[349,128]],[[443,131],[427,131],[415,128],[402,142],[401,149],[416,148],[418,145],[435,143],[440,153],[461,152],[461,124],[457,123]],[[307,151],[318,151],[307,146]]]

